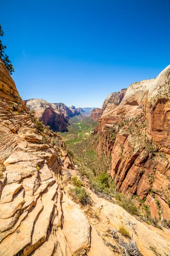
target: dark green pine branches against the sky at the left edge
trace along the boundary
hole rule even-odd
[[[0,36],[3,36],[3,30],[0,24]],[[14,67],[12,66],[11,61],[9,60],[8,55],[5,54],[6,45],[3,45],[2,41],[0,40],[0,58],[3,61],[3,63],[6,65],[10,75],[12,72],[14,72]]]

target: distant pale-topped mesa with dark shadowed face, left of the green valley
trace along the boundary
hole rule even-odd
[[[44,99],[29,99],[24,102],[30,111],[35,112],[34,116],[44,125],[49,125],[53,131],[68,131],[69,118],[81,112],[81,108],[68,108],[63,103],[48,103]]]

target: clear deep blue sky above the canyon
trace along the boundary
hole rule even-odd
[[[23,99],[101,107],[170,64],[170,0],[1,1],[3,43]]]

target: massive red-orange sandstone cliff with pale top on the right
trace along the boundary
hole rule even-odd
[[[170,66],[131,84],[99,119],[99,145],[112,157],[117,189],[146,198],[151,216],[170,219]]]

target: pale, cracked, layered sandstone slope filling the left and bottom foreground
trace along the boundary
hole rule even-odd
[[[0,256],[169,255],[168,229],[139,222],[86,183],[91,205],[74,203],[75,173],[61,137],[37,126],[0,61]],[[139,250],[129,254],[126,242]]]

